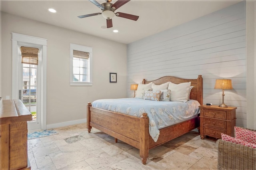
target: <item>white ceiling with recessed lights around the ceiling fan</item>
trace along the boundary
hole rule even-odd
[[[104,0],[98,0],[100,4]],[[112,0],[114,4],[116,0]],[[103,16],[77,16],[102,12],[88,0],[1,0],[1,11],[54,26],[91,34],[120,43],[131,43],[214,11],[236,4],[238,0],[131,0],[115,12],[139,16],[137,21],[114,16],[112,28]],[[57,12],[48,12],[54,8]],[[119,30],[118,33],[112,32]]]

